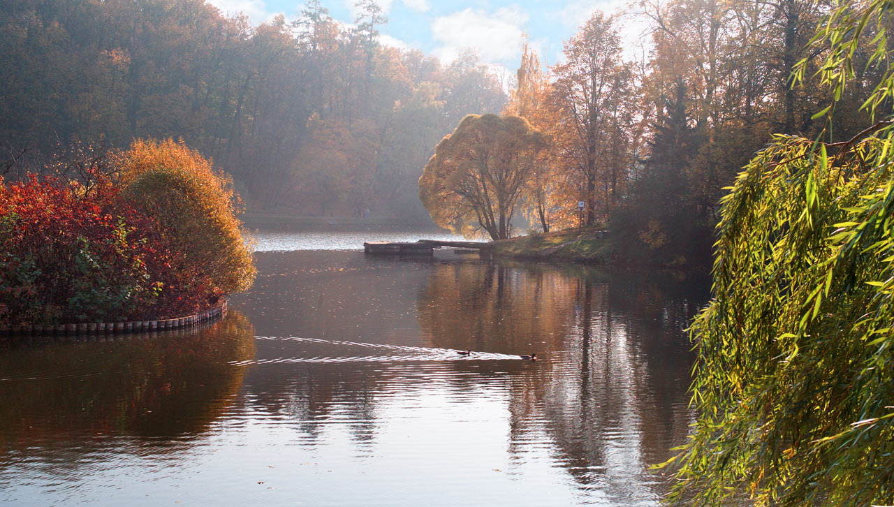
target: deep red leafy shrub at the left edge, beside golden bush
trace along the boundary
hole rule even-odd
[[[0,185],[0,322],[117,320],[155,306],[154,234],[117,194],[34,175]]]

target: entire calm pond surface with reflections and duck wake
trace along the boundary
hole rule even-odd
[[[704,280],[278,241],[216,325],[0,351],[0,503],[657,503]]]

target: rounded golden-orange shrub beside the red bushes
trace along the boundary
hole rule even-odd
[[[137,140],[121,156],[122,199],[164,245],[163,300],[198,308],[247,289],[256,273],[232,181],[181,143]]]

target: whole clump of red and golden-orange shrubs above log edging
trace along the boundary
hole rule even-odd
[[[229,179],[171,139],[0,179],[0,323],[178,317],[255,275]],[[64,157],[64,156],[63,156]]]

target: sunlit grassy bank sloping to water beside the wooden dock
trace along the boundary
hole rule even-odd
[[[496,241],[493,255],[504,258],[572,260],[612,264],[614,246],[601,227],[568,229]]]

